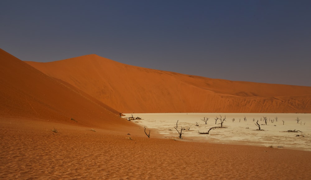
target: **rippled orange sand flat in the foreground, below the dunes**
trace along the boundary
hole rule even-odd
[[[52,132],[57,129],[58,133]],[[0,119],[0,179],[309,179],[311,152]],[[128,135],[130,132],[130,135]]]

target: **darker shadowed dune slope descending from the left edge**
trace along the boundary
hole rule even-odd
[[[100,128],[136,127],[119,118],[113,108],[3,50],[0,50],[0,84],[1,116]]]

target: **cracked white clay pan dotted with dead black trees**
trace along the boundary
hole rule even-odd
[[[174,127],[178,120],[178,130],[183,127],[183,139],[197,142],[240,144],[251,146],[272,146],[295,150],[311,151],[311,114],[299,113],[145,113],[125,114],[125,117],[140,117],[133,120],[147,128],[155,128],[165,138],[178,138]],[[224,128],[219,127],[220,120],[225,119]],[[201,119],[207,119],[207,123]],[[246,118],[244,120],[244,117]],[[263,117],[267,117],[267,125]],[[297,117],[299,123],[297,123]],[[233,120],[234,119],[234,120]],[[255,123],[258,120],[261,131]],[[288,132],[296,130],[297,132]],[[299,135],[299,136],[297,136]]]

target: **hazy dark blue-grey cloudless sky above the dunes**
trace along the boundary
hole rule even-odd
[[[311,86],[311,1],[0,0],[22,61],[97,54],[215,79]]]

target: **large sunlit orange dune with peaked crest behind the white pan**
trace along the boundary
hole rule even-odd
[[[94,54],[27,63],[123,113],[311,113],[311,87],[210,79]]]

